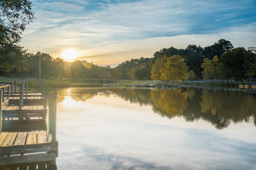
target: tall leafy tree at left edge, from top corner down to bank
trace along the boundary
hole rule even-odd
[[[0,1],[0,74],[28,70],[26,50],[16,45],[26,25],[33,21],[31,1]]]

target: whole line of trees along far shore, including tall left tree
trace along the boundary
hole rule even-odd
[[[18,45],[26,25],[35,18],[31,1],[0,1],[0,74],[38,77],[41,58],[42,77],[73,79],[251,79],[256,76],[256,48],[234,48],[228,40],[185,49],[164,48],[151,58],[122,62],[117,67],[101,67],[85,60],[65,62],[60,58],[37,52],[27,53]]]

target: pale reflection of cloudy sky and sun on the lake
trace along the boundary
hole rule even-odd
[[[72,106],[72,108],[70,108]],[[74,109],[75,108],[75,109]],[[256,169],[252,123],[216,130],[110,96],[58,104],[59,169]]]

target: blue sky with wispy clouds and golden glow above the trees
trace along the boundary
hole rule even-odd
[[[256,46],[256,0],[32,0],[36,19],[21,45],[28,52],[117,66],[166,47]]]

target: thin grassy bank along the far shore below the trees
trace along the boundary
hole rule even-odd
[[[0,83],[11,84],[11,81],[17,81],[17,84],[21,84],[22,81],[27,81],[29,87],[38,88],[39,79],[33,77],[0,77]],[[171,82],[171,81],[134,81],[134,80],[118,80],[114,84],[107,84],[102,82],[90,82],[88,79],[41,79],[50,88],[68,88],[68,87],[92,87],[92,86],[137,86],[137,87],[159,87],[159,88],[171,88],[176,86],[209,86],[209,87],[236,87],[241,84],[238,81],[232,82],[208,82],[208,81],[183,81],[183,82]],[[247,84],[247,82],[243,82]]]

